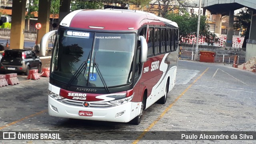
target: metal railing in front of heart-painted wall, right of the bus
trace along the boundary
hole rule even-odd
[[[215,62],[223,62],[223,63],[233,63],[234,56],[238,55],[238,64],[242,64],[245,62],[245,51],[242,48],[232,48],[232,47],[219,47],[219,46],[209,46],[209,45],[199,45],[198,46],[198,54],[196,56],[196,45],[195,44],[186,44],[180,43],[180,59],[186,60],[199,60],[200,51],[210,51],[215,52]]]

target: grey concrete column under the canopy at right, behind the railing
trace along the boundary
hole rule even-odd
[[[230,10],[229,21],[228,21],[227,40],[226,40],[227,47],[232,47],[233,26],[234,26],[234,10]]]

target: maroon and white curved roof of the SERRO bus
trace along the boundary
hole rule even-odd
[[[60,23],[61,26],[83,29],[102,30],[138,30],[145,24],[172,25],[176,22],[161,18],[155,14],[139,10],[76,10],[68,14]]]

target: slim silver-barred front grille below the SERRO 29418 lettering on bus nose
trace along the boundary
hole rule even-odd
[[[65,104],[72,105],[72,106],[81,106],[83,107],[84,102],[74,102],[70,100],[62,101]],[[95,102],[88,102],[90,104],[90,108],[110,108],[114,105],[108,103],[95,103]]]

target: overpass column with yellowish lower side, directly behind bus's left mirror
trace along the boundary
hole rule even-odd
[[[44,34],[49,32],[50,27],[50,6],[51,0],[39,0],[39,8],[38,8],[38,20],[37,22],[42,24],[40,30],[38,30],[38,44]]]

